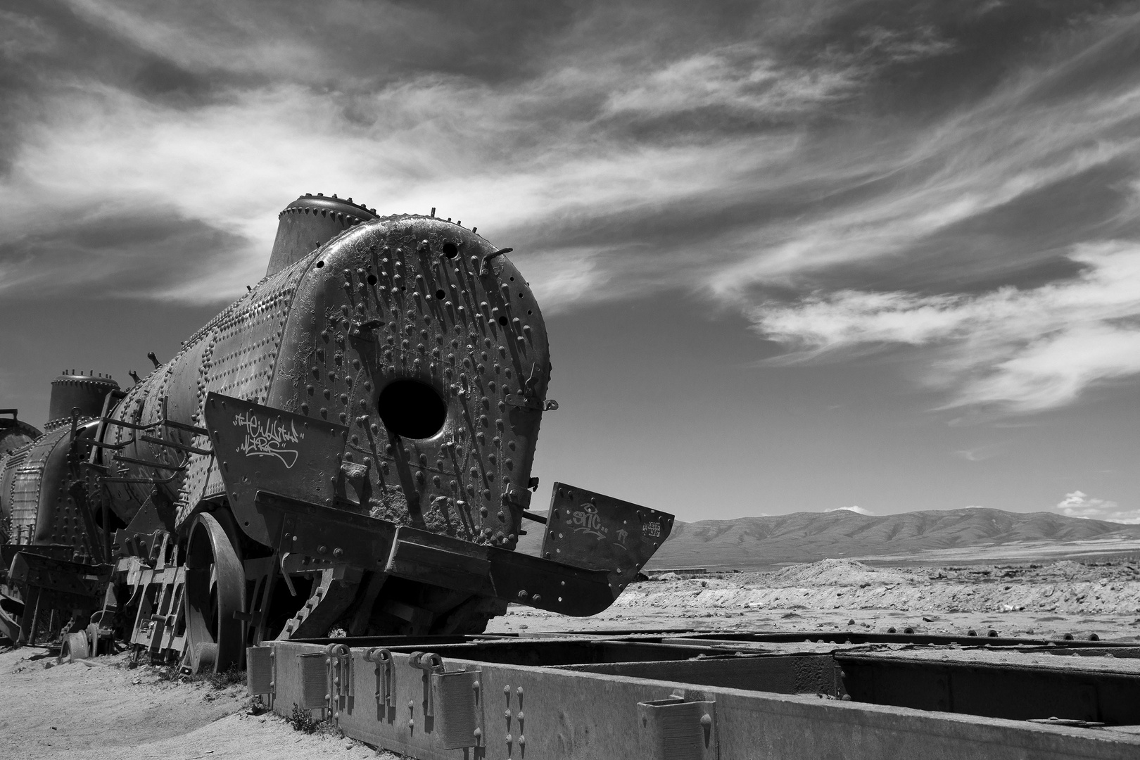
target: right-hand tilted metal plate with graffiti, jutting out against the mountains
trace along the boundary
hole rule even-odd
[[[554,483],[542,556],[575,567],[609,570],[617,596],[671,530],[670,514]]]

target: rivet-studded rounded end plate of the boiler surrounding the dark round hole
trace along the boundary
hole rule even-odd
[[[451,230],[385,218],[311,260],[302,288],[319,287],[323,311],[308,326],[311,343],[295,351],[308,361],[294,408],[350,426],[345,458],[369,466],[375,516],[513,545],[519,507],[503,496],[529,480],[548,374],[545,329],[518,270],[499,256],[497,273],[480,275],[486,244]],[[407,378],[447,404],[440,434],[389,434],[380,394]]]

